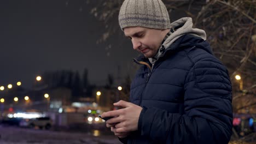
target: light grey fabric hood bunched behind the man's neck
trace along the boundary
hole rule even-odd
[[[164,43],[160,47],[164,46],[165,49],[168,49],[168,47],[170,47],[170,45],[175,40],[177,40],[178,38],[182,37],[185,34],[191,34],[191,35],[194,35],[195,37],[200,37],[203,40],[206,40],[205,31],[203,31],[202,29],[193,28],[193,21],[191,17],[183,17],[177,21],[172,22],[171,29],[173,29],[173,31],[170,31],[170,36],[167,37],[167,39],[164,41]],[[160,52],[160,49],[159,49],[154,59],[157,60],[161,55],[162,55],[162,52]],[[154,64],[154,62],[152,62],[153,58],[149,58],[149,61]]]

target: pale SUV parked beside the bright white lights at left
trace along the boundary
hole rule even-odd
[[[29,127],[34,128],[38,127],[39,129],[50,129],[53,125],[53,121],[50,117],[38,117],[32,119],[22,119],[20,122],[20,127]]]

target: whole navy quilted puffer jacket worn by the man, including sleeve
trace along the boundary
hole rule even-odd
[[[141,59],[150,64],[147,58]],[[231,83],[207,41],[177,39],[156,61],[143,65],[131,84],[131,103],[142,106],[138,130],[127,143],[228,143]]]

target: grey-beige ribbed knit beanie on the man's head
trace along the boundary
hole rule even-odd
[[[171,28],[170,17],[161,0],[125,0],[119,12],[119,25],[155,29]]]

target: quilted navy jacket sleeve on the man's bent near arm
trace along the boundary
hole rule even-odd
[[[184,114],[143,107],[141,135],[160,143],[228,143],[232,88],[226,68],[217,59],[201,59],[184,83]]]

